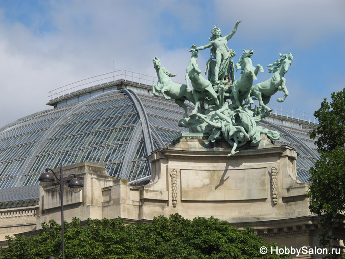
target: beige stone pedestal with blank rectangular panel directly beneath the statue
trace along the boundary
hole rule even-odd
[[[251,222],[310,215],[305,199],[308,185],[296,174],[296,151],[263,142],[228,157],[227,142],[214,144],[205,136],[188,133],[167,149],[154,151],[141,217],[178,212],[190,219],[214,216]],[[147,202],[153,206],[156,200],[157,208],[146,208]]]

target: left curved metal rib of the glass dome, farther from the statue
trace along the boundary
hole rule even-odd
[[[45,132],[45,134],[43,136],[41,136],[41,139],[32,148],[32,150],[31,150],[30,154],[28,155],[28,158],[26,159],[22,169],[17,174],[17,180],[13,184],[13,188],[23,186],[23,183],[25,181],[25,173],[27,172],[28,168],[31,168],[34,165],[34,163],[36,161],[36,154],[39,154],[42,151],[42,149],[45,147],[45,145],[48,142],[48,138],[53,136],[56,132],[58,132],[61,124],[67,122],[71,118],[71,115],[73,113],[75,113],[76,111],[79,111],[81,109],[81,107],[83,107],[84,105],[88,104],[89,102],[91,102],[91,101],[93,101],[99,97],[102,97],[104,95],[108,95],[109,93],[115,92],[115,91],[118,91],[118,90],[113,90],[113,91],[109,91],[106,93],[102,93],[102,94],[98,94],[98,95],[95,95],[93,97],[90,97],[90,98],[80,102],[79,104],[77,104],[74,108],[72,108],[71,110],[66,112],[62,117],[60,117],[57,121],[55,121],[55,123],[49,128],[49,130],[47,130]]]

